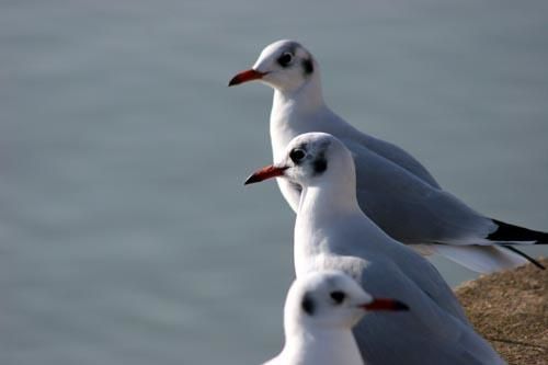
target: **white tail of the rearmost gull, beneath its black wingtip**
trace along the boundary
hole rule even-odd
[[[529,261],[538,264],[534,259],[512,247],[432,244],[431,248],[444,258],[482,274],[513,269]]]

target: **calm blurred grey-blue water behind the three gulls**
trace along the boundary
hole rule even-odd
[[[0,364],[256,364],[282,345],[293,215],[271,91],[304,42],[331,106],[488,215],[548,229],[548,3],[2,1]],[[536,254],[548,251],[537,249]],[[473,274],[436,261],[452,284]]]

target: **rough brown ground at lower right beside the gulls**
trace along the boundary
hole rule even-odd
[[[548,259],[539,260],[548,267]],[[532,264],[455,289],[468,318],[511,365],[548,365],[548,270]]]

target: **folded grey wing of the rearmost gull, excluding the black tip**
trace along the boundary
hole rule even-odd
[[[406,243],[491,244],[484,240],[495,229],[491,219],[362,145],[343,141],[354,155],[359,206],[391,237]]]

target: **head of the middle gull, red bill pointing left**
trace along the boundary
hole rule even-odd
[[[341,180],[355,184],[354,160],[343,142],[332,135],[306,133],[287,145],[281,161],[255,171],[244,184],[277,176],[300,186]]]

